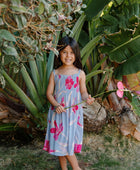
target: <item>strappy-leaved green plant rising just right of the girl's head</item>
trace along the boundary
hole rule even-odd
[[[85,19],[78,39],[81,46],[82,64],[87,74],[87,88],[93,96],[105,91],[107,82],[113,72],[112,68],[108,66],[103,68],[103,63],[108,57],[105,55],[100,56],[98,46],[104,34],[96,31],[101,13],[109,2],[110,0],[103,3],[95,0],[86,2]]]

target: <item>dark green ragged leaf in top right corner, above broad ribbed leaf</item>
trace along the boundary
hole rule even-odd
[[[115,1],[116,2],[116,1]],[[112,3],[112,8],[107,7],[98,23],[98,31],[105,33],[118,32],[120,29],[132,31],[136,23],[139,23],[139,0]]]

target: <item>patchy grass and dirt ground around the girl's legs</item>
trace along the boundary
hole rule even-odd
[[[1,136],[0,169],[60,170],[57,157],[42,150],[43,143],[44,136],[34,140],[24,135],[20,139]],[[139,170],[140,142],[122,136],[117,125],[108,124],[99,134],[85,132],[82,152],[76,156],[82,170]]]

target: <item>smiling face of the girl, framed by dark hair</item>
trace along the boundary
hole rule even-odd
[[[75,54],[69,45],[60,51],[60,59],[65,66],[73,65],[75,61]]]

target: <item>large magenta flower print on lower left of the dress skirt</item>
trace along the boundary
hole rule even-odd
[[[59,128],[58,128],[56,120],[54,120],[54,125],[55,125],[55,128],[51,128],[50,132],[54,133],[54,136],[53,136],[54,139],[58,140],[60,133],[63,131],[63,126],[62,126],[62,123],[60,123]]]

